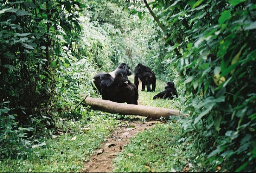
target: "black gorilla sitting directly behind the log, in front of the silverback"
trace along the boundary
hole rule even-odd
[[[138,104],[138,89],[128,79],[125,79],[121,72],[116,74],[113,80],[110,74],[102,75],[101,92],[103,100],[115,101],[118,103]]]

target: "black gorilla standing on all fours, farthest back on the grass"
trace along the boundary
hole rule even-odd
[[[147,67],[138,63],[138,65],[134,69],[134,84],[138,88],[139,86],[139,78],[142,81],[142,88],[141,90],[145,90],[145,85],[147,85],[147,92],[154,91],[156,89],[156,76],[154,72]],[[152,84],[152,89],[150,89],[150,85]]]

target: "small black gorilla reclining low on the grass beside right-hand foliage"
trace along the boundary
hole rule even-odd
[[[171,100],[174,98],[176,95],[176,98],[178,97],[177,91],[175,89],[174,83],[173,82],[167,82],[167,85],[164,87],[165,90],[162,92],[159,92],[157,95],[153,97],[153,99],[156,98],[170,98]]]

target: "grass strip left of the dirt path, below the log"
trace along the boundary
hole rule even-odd
[[[0,161],[1,172],[81,172],[84,162],[117,124],[99,111],[89,116],[90,121],[86,116],[79,121],[58,117],[57,127],[69,133],[33,141],[32,148],[26,149],[27,158]]]

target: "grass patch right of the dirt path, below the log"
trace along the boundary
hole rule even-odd
[[[180,123],[157,124],[138,133],[114,159],[114,172],[200,172],[206,156],[200,155],[202,149],[192,143],[191,135],[182,134]]]

